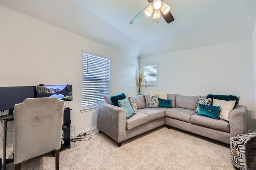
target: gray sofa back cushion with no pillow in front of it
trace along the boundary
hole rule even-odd
[[[196,110],[200,97],[201,96],[182,96],[180,94],[177,94],[176,107]]]

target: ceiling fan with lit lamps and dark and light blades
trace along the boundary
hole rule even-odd
[[[141,12],[139,12],[139,14],[137,14],[132,21],[130,21],[130,23],[138,22],[144,16],[144,14],[149,17],[153,14],[153,20],[155,21],[156,19],[156,22],[158,22],[157,19],[160,18],[161,15],[167,23],[174,21],[174,18],[170,12],[170,6],[163,1],[164,0],[148,0],[150,5],[146,6]]]

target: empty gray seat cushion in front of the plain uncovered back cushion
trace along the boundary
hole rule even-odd
[[[165,111],[165,116],[190,123],[190,117],[196,114],[196,110],[174,107]]]

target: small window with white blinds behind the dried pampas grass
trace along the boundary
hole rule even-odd
[[[148,86],[157,85],[157,64],[143,66],[144,78],[147,80]]]

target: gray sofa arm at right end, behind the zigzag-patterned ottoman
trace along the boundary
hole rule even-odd
[[[247,133],[247,107],[238,105],[229,115],[230,138]]]

